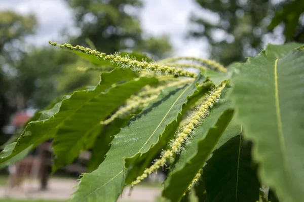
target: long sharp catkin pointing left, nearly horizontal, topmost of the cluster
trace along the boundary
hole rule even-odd
[[[57,43],[51,43],[49,42],[52,46],[57,46]],[[175,68],[175,67],[170,67],[168,65],[160,65],[157,63],[148,63],[145,60],[137,61],[134,58],[130,58],[129,56],[122,57],[119,54],[111,54],[111,55],[106,55],[105,53],[92,50],[90,48],[86,48],[83,46],[72,46],[70,44],[63,44],[63,45],[58,45],[60,48],[67,48],[70,50],[80,50],[83,53],[89,54],[89,55],[95,55],[96,57],[103,59],[103,60],[110,60],[112,63],[116,63],[118,66],[122,68],[130,68],[134,71],[139,71],[142,69],[145,69],[147,71],[154,71],[157,73],[163,73],[163,74],[172,74],[175,76],[185,76],[185,77],[196,77],[197,74],[193,72],[189,72],[186,70],[183,70],[181,68]]]

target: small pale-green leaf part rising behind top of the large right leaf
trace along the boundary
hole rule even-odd
[[[299,43],[288,43],[284,45],[273,45],[269,44],[266,47],[266,56],[271,59],[278,59],[286,56],[290,51],[302,47],[303,44]]]

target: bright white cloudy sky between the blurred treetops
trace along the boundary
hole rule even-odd
[[[39,27],[36,35],[28,37],[27,42],[37,46],[48,45],[48,41],[64,42],[60,30],[66,27],[72,34],[79,33],[73,27],[72,11],[63,0],[0,0],[0,10],[7,9],[36,15]],[[143,0],[139,17],[148,35],[170,36],[174,55],[207,57],[208,46],[204,39],[185,39],[192,12],[202,13],[195,0]]]

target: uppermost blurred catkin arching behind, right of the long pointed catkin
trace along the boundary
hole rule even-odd
[[[196,57],[174,57],[174,58],[167,58],[164,60],[159,61],[159,63],[172,63],[172,62],[176,62],[179,60],[192,60],[192,61],[196,61],[196,62],[200,62],[203,64],[207,64],[210,65],[211,67],[213,67],[214,69],[221,71],[221,72],[226,72],[226,68],[221,65],[220,63],[214,61],[214,60],[208,60],[208,59],[203,59],[203,58],[196,58]]]

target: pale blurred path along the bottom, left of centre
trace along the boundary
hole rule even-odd
[[[30,180],[24,182],[21,187],[10,190],[9,192],[6,187],[0,186],[0,198],[67,200],[70,198],[76,185],[76,180],[51,178],[48,190],[38,191],[39,183],[35,180]],[[161,189],[158,187],[137,186],[133,188],[130,196],[129,191],[130,187],[125,188],[123,196],[120,197],[118,201],[155,202],[157,196],[161,194]]]

